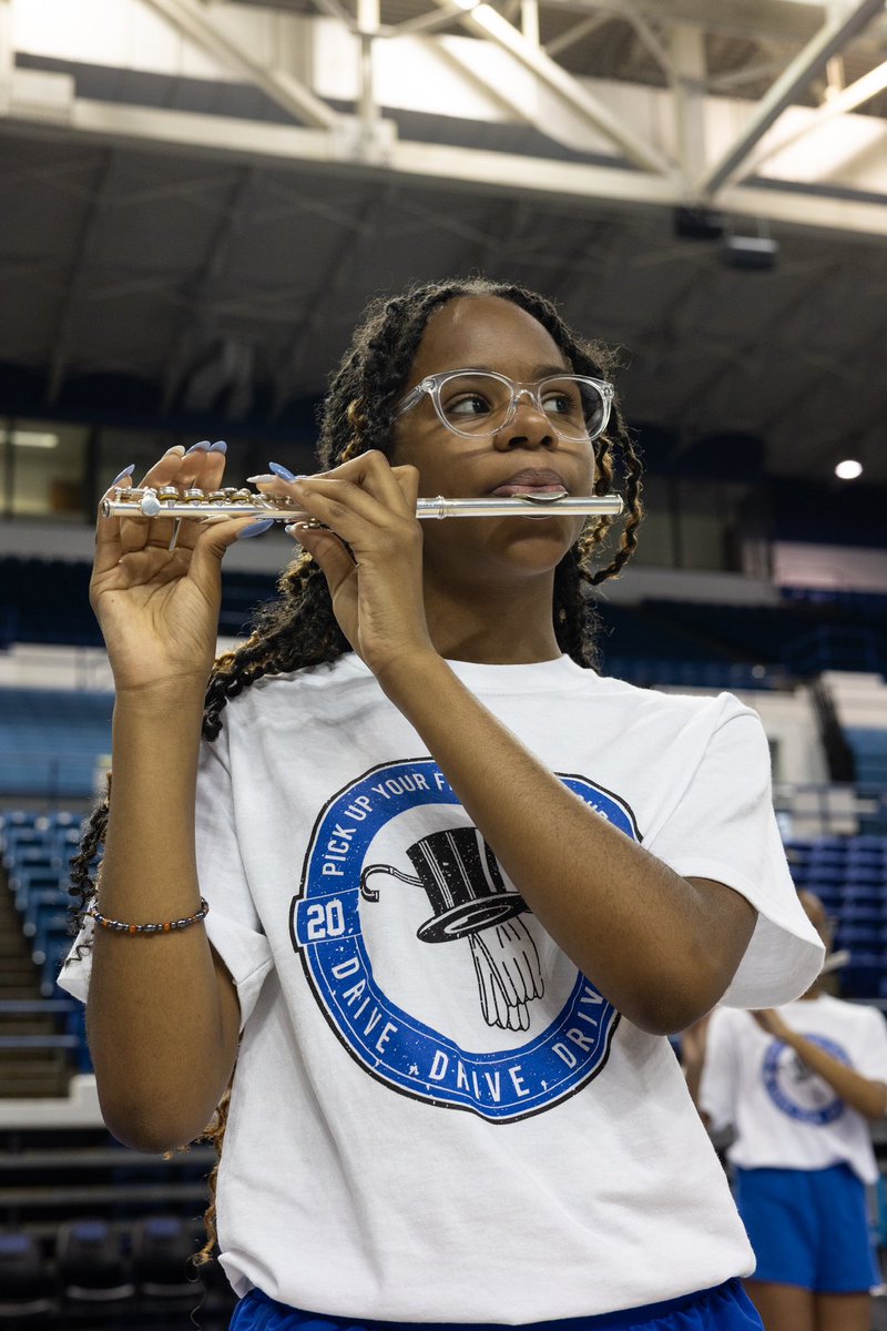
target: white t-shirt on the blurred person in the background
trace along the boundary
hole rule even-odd
[[[887,1025],[876,1008],[821,994],[781,1008],[779,1016],[863,1077],[887,1082]],[[866,1118],[747,1012],[711,1014],[699,1103],[715,1130],[734,1129],[727,1158],[741,1169],[843,1162],[863,1183],[878,1179]]]

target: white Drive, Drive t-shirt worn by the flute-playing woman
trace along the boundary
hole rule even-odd
[[[730,1001],[811,984],[822,948],[754,712],[567,656],[451,664],[601,817],[757,906]],[[668,1040],[620,1017],[521,909],[360,659],[262,679],[223,719],[203,747],[198,861],[243,1020],[218,1181],[235,1291],[521,1323],[750,1272]],[[63,982],[82,994],[77,969]]]

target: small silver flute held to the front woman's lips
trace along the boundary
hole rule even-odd
[[[489,495],[483,499],[416,499],[416,518],[544,518],[551,514],[616,518],[622,512],[620,495]],[[303,508],[286,499],[269,499],[253,490],[184,490],[161,486],[157,490],[114,490],[102,499],[105,518],[270,518],[273,522],[317,522]]]

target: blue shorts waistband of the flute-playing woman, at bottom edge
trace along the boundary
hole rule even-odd
[[[253,1290],[234,1310],[230,1331],[503,1331],[503,1323],[354,1322],[301,1312]],[[593,1318],[528,1322],[520,1331],[763,1331],[763,1326],[739,1280],[727,1280],[715,1290],[665,1303]]]

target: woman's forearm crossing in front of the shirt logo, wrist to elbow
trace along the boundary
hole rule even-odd
[[[379,681],[533,913],[610,1002],[656,1033],[714,1006],[754,929],[742,897],[682,878],[594,815],[436,654]]]

